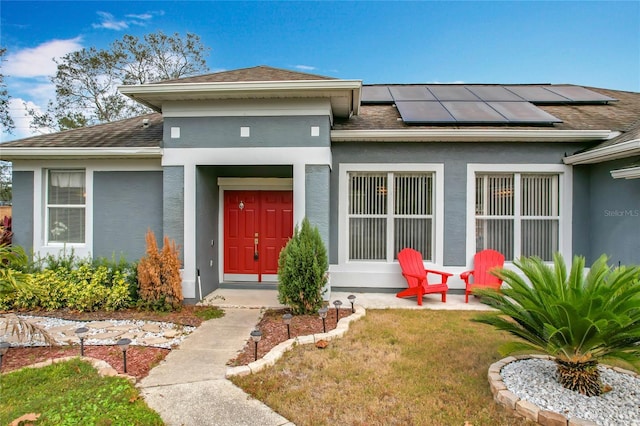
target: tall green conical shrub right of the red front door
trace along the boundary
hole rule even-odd
[[[278,258],[280,303],[289,306],[294,315],[315,313],[322,307],[328,268],[327,249],[320,232],[304,218]]]

